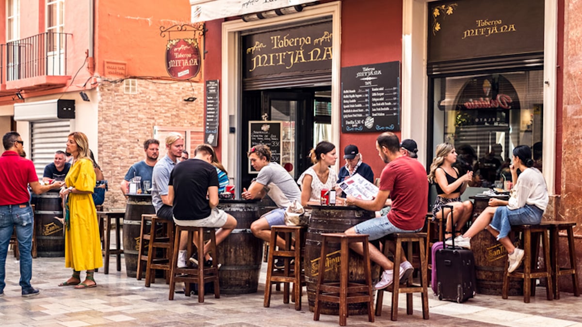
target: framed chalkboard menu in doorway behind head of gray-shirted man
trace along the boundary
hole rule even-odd
[[[265,144],[271,148],[271,162],[281,163],[281,124],[280,120],[257,120],[249,122],[249,144]],[[249,173],[258,173],[249,165]]]

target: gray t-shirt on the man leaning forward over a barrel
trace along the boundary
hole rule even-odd
[[[279,208],[289,207],[293,200],[301,199],[299,186],[279,163],[269,162],[264,166],[258,172],[256,182],[265,186],[268,196]]]

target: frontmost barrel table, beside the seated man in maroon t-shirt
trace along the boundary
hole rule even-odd
[[[315,285],[321,264],[321,234],[345,232],[346,229],[375,217],[374,211],[367,211],[352,205],[310,205],[313,209],[307,228],[305,241],[305,281],[307,283],[307,298],[309,310],[315,309]],[[339,243],[329,243],[329,253],[325,258],[326,282],[339,282]],[[364,261],[361,255],[350,250],[349,262],[350,281],[365,283]],[[378,279],[378,269],[372,268],[372,280]],[[324,302],[321,306],[322,314],[338,315],[337,303]],[[365,303],[348,305],[349,315],[368,314]]]

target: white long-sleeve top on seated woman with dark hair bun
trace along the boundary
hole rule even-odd
[[[530,167],[521,172],[509,197],[508,208],[514,210],[526,204],[535,205],[545,211],[548,207],[548,187],[544,175],[537,168]]]

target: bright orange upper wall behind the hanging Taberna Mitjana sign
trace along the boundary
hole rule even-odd
[[[127,63],[128,76],[168,77],[165,51],[168,35],[159,35],[160,26],[190,23],[188,0],[95,0],[96,70],[103,74],[104,61]],[[172,33],[192,37],[192,33]],[[203,97],[199,97],[203,98]]]

